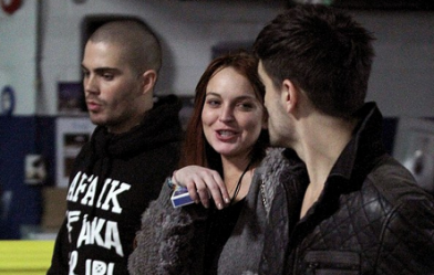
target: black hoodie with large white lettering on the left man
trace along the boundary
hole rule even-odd
[[[142,213],[178,161],[180,107],[169,96],[125,134],[96,127],[71,172],[65,220],[48,274],[127,274]]]

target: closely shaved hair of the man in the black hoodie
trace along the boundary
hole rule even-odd
[[[120,19],[101,25],[89,39],[121,45],[123,57],[142,74],[147,70],[158,73],[162,67],[162,46],[156,34],[138,19]]]

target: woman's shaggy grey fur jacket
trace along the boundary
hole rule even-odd
[[[269,149],[255,170],[237,224],[220,254],[218,274],[257,273],[276,183],[296,180],[290,171],[298,160],[292,163],[281,152],[280,148]],[[132,275],[204,274],[207,210],[197,204],[174,209],[170,191],[164,186],[158,199],[143,214],[142,229],[136,234],[137,246],[128,258]]]

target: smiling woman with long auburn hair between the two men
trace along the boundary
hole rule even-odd
[[[130,256],[131,274],[257,273],[276,182],[302,165],[267,152],[258,61],[244,51],[215,59],[195,95],[180,169],[151,203]],[[173,186],[196,203],[174,208]]]

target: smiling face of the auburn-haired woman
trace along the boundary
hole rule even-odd
[[[249,81],[232,67],[208,82],[202,112],[209,145],[227,158],[247,157],[265,125],[265,108]]]

